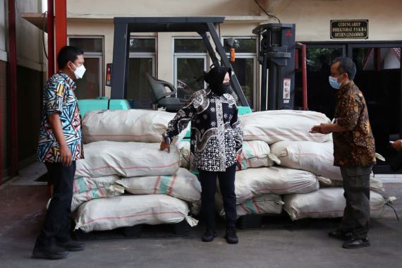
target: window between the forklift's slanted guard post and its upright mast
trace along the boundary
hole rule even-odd
[[[224,38],[224,44],[229,37]],[[238,82],[251,109],[255,109],[257,95],[257,39],[254,37],[234,37],[236,61],[231,63]],[[229,56],[229,47],[225,46]]]

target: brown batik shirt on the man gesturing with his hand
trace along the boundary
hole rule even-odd
[[[353,81],[336,95],[335,118],[345,132],[332,133],[335,166],[372,166],[375,164],[374,137],[367,104]]]

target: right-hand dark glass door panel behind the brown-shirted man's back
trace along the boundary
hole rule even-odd
[[[376,152],[386,159],[377,161],[377,173],[391,172],[396,151],[389,141],[401,138],[401,47],[352,44],[349,48],[357,67],[355,83],[367,102]]]

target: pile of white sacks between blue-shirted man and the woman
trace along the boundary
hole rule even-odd
[[[71,206],[75,229],[104,231],[183,219],[190,226],[197,224],[188,213],[189,206],[199,209],[200,182],[180,169],[176,146],[170,153],[159,150],[162,133],[174,115],[148,110],[85,114],[85,159],[76,162]]]

